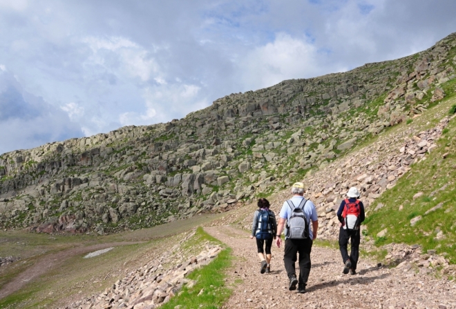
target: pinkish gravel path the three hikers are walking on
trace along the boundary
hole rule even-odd
[[[287,290],[283,248],[273,245],[272,272],[261,275],[256,243],[247,232],[230,226],[205,230],[227,243],[236,257],[228,283],[237,284],[223,308],[456,308],[454,282],[413,269],[379,268],[364,258],[358,263],[358,275],[343,275],[339,250],[316,246],[307,293],[296,294]]]

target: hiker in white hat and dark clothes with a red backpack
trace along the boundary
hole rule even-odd
[[[361,240],[360,228],[364,221],[364,206],[358,199],[360,192],[352,187],[347,192],[348,199],[344,199],[337,211],[339,219],[339,249],[343,261],[343,273],[347,275],[357,274],[357,263],[359,258],[359,242]],[[351,251],[348,255],[347,246],[350,239]]]

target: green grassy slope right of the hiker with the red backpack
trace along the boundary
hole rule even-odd
[[[439,110],[444,108],[446,106]],[[453,248],[456,239],[456,158],[448,156],[443,159],[444,153],[456,152],[455,136],[456,121],[453,120],[448,123],[445,134],[437,140],[437,148],[426,156],[426,160],[412,164],[408,174],[370,206],[365,220],[368,234],[377,235],[388,228],[386,237],[374,238],[376,246],[392,242],[410,245],[417,243],[424,252],[429,249],[437,250],[438,253],[446,252],[446,257],[453,263],[456,262],[456,251]],[[417,192],[423,192],[424,195],[414,200],[413,196]],[[385,206],[372,212],[377,203]],[[399,210],[399,206],[402,206],[402,210]],[[435,206],[441,208],[428,212]],[[421,220],[411,226],[410,220],[418,216],[421,216]],[[443,237],[437,238],[440,231],[443,232]]]

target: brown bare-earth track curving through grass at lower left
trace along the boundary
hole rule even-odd
[[[63,265],[69,257],[73,257],[74,255],[82,255],[84,253],[101,250],[105,248],[115,247],[115,246],[123,246],[123,245],[132,245],[135,243],[140,243],[138,241],[133,242],[115,242],[115,243],[99,243],[93,246],[86,246],[86,247],[77,247],[71,248],[68,250],[62,250],[57,253],[53,253],[50,255],[45,255],[37,263],[33,264],[25,271],[21,272],[15,279],[6,283],[3,288],[0,290],[0,299],[3,297],[7,297],[13,292],[16,292],[20,288],[22,288],[27,283],[37,279],[39,276],[44,275],[46,272],[58,268],[59,266]]]

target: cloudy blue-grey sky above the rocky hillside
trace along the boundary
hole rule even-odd
[[[405,57],[456,32],[454,12],[447,0],[0,0],[0,154]]]

